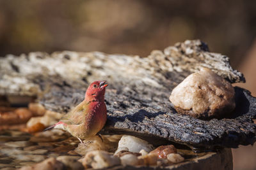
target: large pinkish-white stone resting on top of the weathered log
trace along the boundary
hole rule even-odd
[[[236,107],[234,87],[207,68],[177,85],[170,101],[178,113],[196,118],[221,118]]]

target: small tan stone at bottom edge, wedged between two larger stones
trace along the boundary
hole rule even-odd
[[[78,159],[81,159],[81,157],[60,156],[57,158],[57,160],[65,164],[65,167],[67,167],[67,169],[74,169],[74,170],[84,169],[83,164],[77,161]]]

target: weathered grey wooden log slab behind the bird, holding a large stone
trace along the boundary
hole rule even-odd
[[[231,83],[244,82],[228,57],[202,41],[185,41],[148,57],[100,52],[29,53],[0,59],[0,94],[37,96],[48,110],[67,113],[81,102],[88,83],[108,80],[108,122],[102,132],[157,137],[196,148],[236,148],[256,141],[256,99],[236,87],[231,118],[209,121],[178,115],[168,100],[189,74],[209,67]]]

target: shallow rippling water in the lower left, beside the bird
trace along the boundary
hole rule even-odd
[[[0,131],[0,169],[19,168],[60,155],[79,156],[74,152],[76,138],[62,131],[47,131],[35,136],[20,131]]]

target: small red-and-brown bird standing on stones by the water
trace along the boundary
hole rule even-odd
[[[90,138],[104,127],[107,120],[107,108],[104,95],[108,83],[106,81],[94,81],[86,90],[84,100],[74,109],[64,115],[60,122],[51,125],[50,129],[63,129],[79,139]]]

